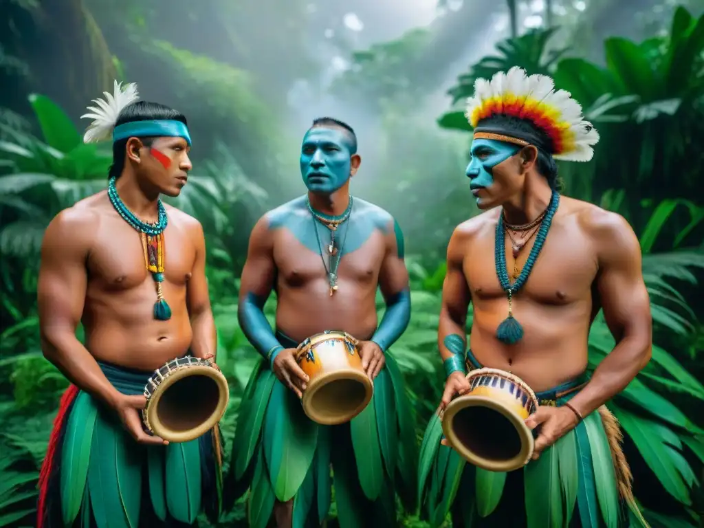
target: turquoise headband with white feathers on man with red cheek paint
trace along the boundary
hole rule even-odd
[[[89,118],[93,122],[87,128],[84,136],[84,143],[94,143],[112,139],[113,142],[128,137],[149,137],[149,136],[169,136],[183,137],[188,144],[191,144],[191,136],[188,127],[177,120],[143,120],[125,122],[122,125],[118,122],[120,112],[130,104],[139,99],[137,84],[130,82],[122,88],[122,82],[115,81],[113,94],[103,92],[105,99],[93,99],[96,106],[89,106],[89,113],[81,115],[81,119]]]

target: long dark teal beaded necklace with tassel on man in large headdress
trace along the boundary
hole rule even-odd
[[[530,272],[533,270],[533,265],[535,264],[541,249],[543,249],[543,244],[545,244],[545,239],[548,236],[548,230],[550,230],[550,226],[553,222],[553,216],[555,215],[555,211],[558,210],[559,204],[560,194],[553,191],[553,196],[551,196],[550,204],[546,209],[543,223],[536,234],[535,244],[530,251],[520,275],[513,284],[510,284],[508,279],[508,271],[506,270],[503,214],[498,216],[498,222],[496,222],[494,262],[496,263],[496,275],[498,277],[498,282],[501,284],[501,288],[508,296],[508,317],[501,322],[501,325],[498,325],[498,328],[496,329],[496,338],[505,344],[513,345],[523,339],[523,327],[520,325],[520,322],[513,317],[513,310],[511,309],[512,297],[528,280]]]

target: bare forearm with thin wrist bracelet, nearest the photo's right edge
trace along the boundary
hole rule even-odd
[[[582,417],[619,394],[650,360],[650,341],[623,339],[596,367],[589,383],[570,400]]]

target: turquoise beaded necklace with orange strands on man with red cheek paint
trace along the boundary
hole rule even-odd
[[[161,283],[164,280],[164,230],[168,224],[166,210],[161,203],[157,202],[159,219],[156,223],[142,222],[131,210],[125,206],[125,203],[120,200],[118,189],[115,189],[115,178],[112,177],[108,182],[108,198],[113,204],[115,210],[125,222],[139,232],[142,238],[142,249],[144,250],[144,264],[146,269],[151,272],[151,277],[156,282],[156,303],[154,304],[154,318],[160,321],[169,320],[171,318],[171,308],[164,298],[161,290]]]

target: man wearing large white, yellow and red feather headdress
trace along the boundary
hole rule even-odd
[[[477,80],[466,115],[467,177],[486,213],[455,228],[448,244],[438,330],[447,382],[421,448],[425,514],[438,526],[449,511],[455,528],[646,524],[619,424],[604,406],[650,360],[639,241],[619,215],[561,197],[556,181],[555,159],[589,161],[598,134],[568,92],[520,68]],[[601,309],[617,345],[589,379],[589,328]],[[447,406],[474,389],[467,370],[482,367],[520,378],[539,403],[525,420],[535,446],[520,470],[465,463],[442,437]],[[481,439],[491,425],[466,427]]]

